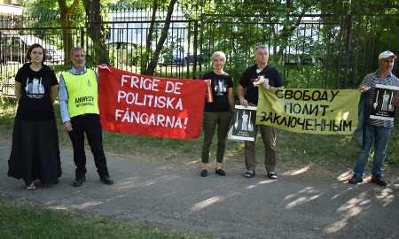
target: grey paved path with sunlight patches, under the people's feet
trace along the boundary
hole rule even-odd
[[[388,187],[350,185],[337,180],[340,172],[336,178],[315,178],[306,170],[278,172],[277,181],[261,170],[246,179],[242,168],[225,168],[225,177],[210,170],[202,178],[200,164],[172,166],[107,156],[115,181],[109,186],[98,180],[89,153],[87,181],[74,188],[73,155],[63,150],[59,184],[27,191],[22,180],[7,177],[10,150],[9,143],[0,142],[2,195],[222,238],[399,238],[399,175],[389,179]]]

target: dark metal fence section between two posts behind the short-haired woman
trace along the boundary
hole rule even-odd
[[[283,24],[268,15],[206,15],[201,18],[200,46],[210,52],[223,50],[230,56],[226,71],[237,82],[240,74],[254,64],[256,44],[267,45],[269,64],[283,74],[291,88],[339,88],[342,75],[337,66],[343,41],[325,41],[343,35],[345,15],[305,15],[286,39],[276,40]],[[245,20],[250,19],[250,20]],[[268,19],[268,20],[265,20]],[[202,34],[205,32],[207,35]],[[239,67],[237,67],[239,66]]]

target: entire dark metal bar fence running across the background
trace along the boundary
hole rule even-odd
[[[212,69],[209,61],[212,52],[223,50],[228,56],[224,70],[233,76],[237,86],[241,73],[254,64],[254,46],[266,44],[270,50],[270,65],[283,74],[287,87],[355,89],[366,73],[378,68],[379,52],[392,50],[399,53],[399,31],[395,28],[399,16],[389,13],[399,6],[360,5],[358,9],[358,15],[303,16],[293,33],[283,39],[276,38],[283,30],[282,21],[269,15],[199,14],[198,19],[173,19],[154,74],[166,78],[199,79]],[[145,46],[151,21],[145,17],[145,12],[136,16],[132,12],[114,14],[112,22],[101,22],[106,26],[108,63],[143,73],[159,40],[155,35],[151,46]],[[30,22],[32,19],[18,20]],[[157,31],[163,24],[164,20],[157,20],[153,30]],[[60,27],[1,29],[3,95],[13,95],[15,73],[25,62],[23,55],[27,43],[21,35],[35,36],[43,42],[49,54],[46,64],[57,73],[71,66],[65,58],[65,30]],[[87,24],[68,28],[73,44],[87,50],[88,66],[94,66],[96,42],[90,40],[87,30]],[[20,41],[12,41],[12,35]],[[396,72],[396,65],[393,72]]]

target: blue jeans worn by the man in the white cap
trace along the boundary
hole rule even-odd
[[[364,176],[364,168],[374,144],[374,157],[372,158],[372,175],[382,175],[381,167],[385,162],[387,143],[391,133],[390,127],[378,127],[367,124],[365,147],[357,152],[357,163],[354,172],[357,176]]]

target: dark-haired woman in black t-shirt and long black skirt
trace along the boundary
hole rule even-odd
[[[35,180],[51,185],[59,183],[61,176],[59,135],[53,107],[58,81],[50,67],[43,64],[46,56],[40,44],[30,46],[26,57],[30,62],[15,76],[18,109],[8,176],[23,179],[28,190],[35,190]]]

